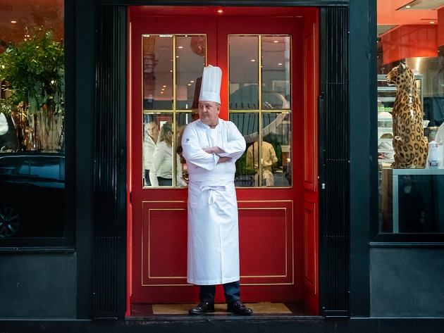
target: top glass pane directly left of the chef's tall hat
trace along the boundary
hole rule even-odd
[[[202,77],[205,49],[206,37],[204,35],[176,36],[175,78],[176,108],[178,109],[197,108],[200,92],[197,78]],[[193,101],[195,106],[193,106]]]

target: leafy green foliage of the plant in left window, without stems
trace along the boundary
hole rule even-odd
[[[37,28],[33,37],[17,46],[9,44],[0,54],[0,79],[9,84],[14,103],[25,101],[30,113],[50,109],[63,113],[63,42],[54,42],[51,32]]]

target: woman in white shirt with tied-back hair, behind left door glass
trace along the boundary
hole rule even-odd
[[[175,161],[177,165],[176,185],[178,187],[186,186],[186,183],[181,179],[182,164],[177,153]],[[154,149],[153,163],[149,170],[149,181],[154,187],[173,185],[173,124],[169,121],[161,127]]]

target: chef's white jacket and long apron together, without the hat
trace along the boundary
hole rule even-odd
[[[218,146],[225,153],[206,153]],[[188,260],[187,282],[225,284],[240,279],[238,202],[235,161],[245,151],[245,139],[233,122],[218,120],[211,129],[200,120],[185,128],[183,156],[187,160]],[[219,156],[230,161],[219,163]]]

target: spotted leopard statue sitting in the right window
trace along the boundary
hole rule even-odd
[[[428,142],[424,137],[421,99],[414,74],[409,66],[400,63],[386,75],[388,85],[396,86],[393,104],[393,169],[424,169],[427,162]]]

